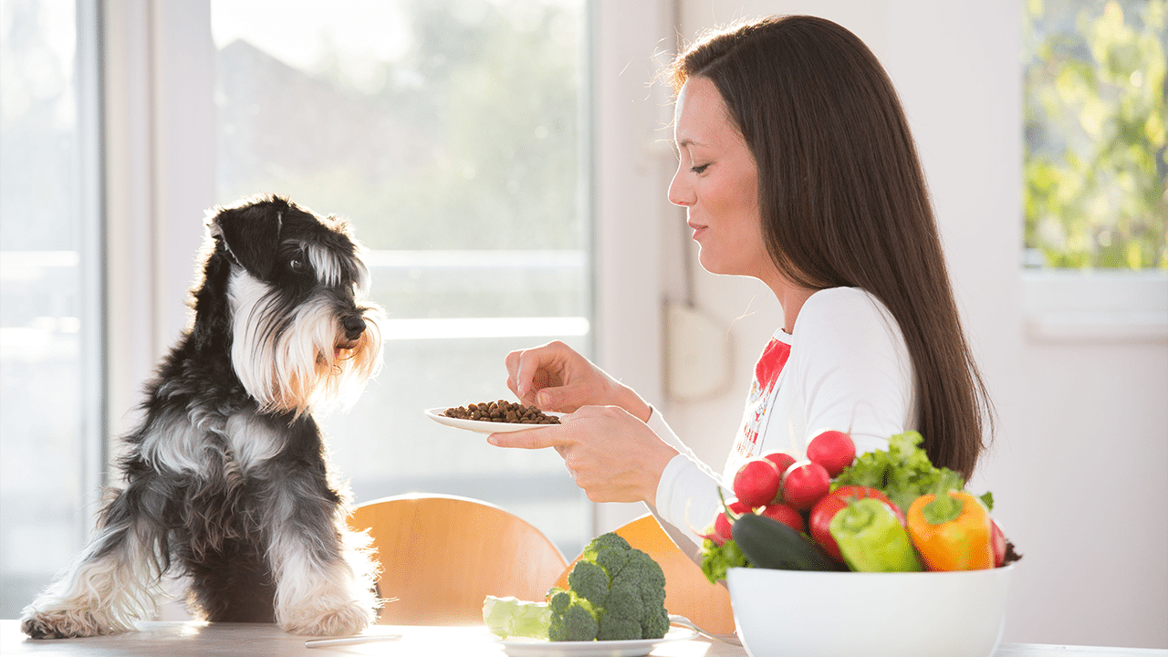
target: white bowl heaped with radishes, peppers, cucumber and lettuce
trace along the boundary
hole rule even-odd
[[[711,523],[702,570],[730,589],[753,657],[989,657],[1011,565],[993,497],[934,468],[915,431],[856,457],[826,431],[807,458],[742,465]]]

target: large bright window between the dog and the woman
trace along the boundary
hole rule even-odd
[[[216,201],[286,194],[370,249],[385,366],[319,419],[334,465],[359,502],[486,499],[578,553],[588,503],[554,450],[423,409],[510,399],[508,351],[591,351],[583,2],[276,6],[211,2]]]

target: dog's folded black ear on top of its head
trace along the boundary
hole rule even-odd
[[[281,214],[287,209],[281,199],[221,208],[209,221],[211,235],[248,274],[265,281],[276,267]]]

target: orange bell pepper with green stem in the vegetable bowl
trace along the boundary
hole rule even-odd
[[[973,495],[923,495],[906,514],[909,535],[930,570],[994,567],[993,520]]]

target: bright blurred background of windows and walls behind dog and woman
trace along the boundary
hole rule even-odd
[[[971,487],[1026,555],[1004,641],[1168,648],[1163,0],[0,0],[0,615],[90,532],[204,213],[253,193],[368,248],[385,367],[321,419],[356,502],[486,499],[569,559],[644,513],[423,415],[552,339],[721,469],[780,310],[696,264],[656,75],[785,13],[912,123],[999,413]]]

